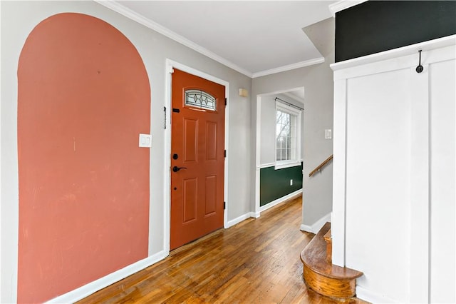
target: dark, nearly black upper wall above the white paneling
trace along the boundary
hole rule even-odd
[[[456,1],[367,1],[336,13],[336,62],[456,34]]]

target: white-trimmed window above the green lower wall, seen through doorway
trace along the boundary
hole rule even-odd
[[[276,103],[276,169],[301,166],[301,111]]]

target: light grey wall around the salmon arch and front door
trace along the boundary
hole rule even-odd
[[[0,1],[1,5],[1,298],[16,299],[18,242],[17,171],[17,64],[22,46],[41,21],[62,12],[78,12],[103,19],[120,30],[138,49],[150,78],[150,240],[149,255],[165,253],[163,106],[165,61],[172,59],[229,82],[228,221],[250,211],[251,154],[250,104],[238,96],[238,88],[250,90],[252,79],[196,51],[167,39],[135,21],[92,1]],[[233,144],[230,144],[233,143]]]

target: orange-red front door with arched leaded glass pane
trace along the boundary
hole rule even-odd
[[[224,92],[204,78],[172,74],[170,249],[223,227]]]

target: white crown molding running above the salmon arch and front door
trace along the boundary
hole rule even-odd
[[[128,9],[128,7],[125,7],[116,1],[113,1],[113,0],[94,0],[94,1],[100,5],[107,7],[108,9],[111,9],[111,10],[117,12],[118,14],[121,14],[121,15],[127,17],[128,19],[132,19],[133,21],[136,21],[139,24],[142,24],[143,26],[146,26],[147,28],[152,29],[153,31],[157,31],[158,33],[166,36],[169,39],[177,41],[178,43],[183,44],[184,46],[187,46],[194,51],[197,51],[199,54],[207,56],[210,59],[213,59],[214,61],[217,61],[220,64],[223,64],[224,66],[229,67],[230,69],[233,69],[234,71],[238,71],[239,73],[244,74],[245,76],[249,76],[250,78],[252,78],[252,76],[253,76],[252,72],[247,71],[246,69],[242,69],[240,66],[237,66],[237,64],[233,64],[231,61],[228,61],[227,59],[224,59],[223,57],[212,53],[212,51],[209,51],[208,49],[205,49],[204,47],[199,46],[198,44],[195,44],[194,42],[186,39],[185,37],[182,37],[179,34],[176,34],[174,31],[171,31],[170,29],[165,28],[165,26],[161,26],[160,24],[157,24],[156,22],[154,22],[150,19],[147,19],[145,16],[142,16],[141,14],[138,14],[135,11]]]

